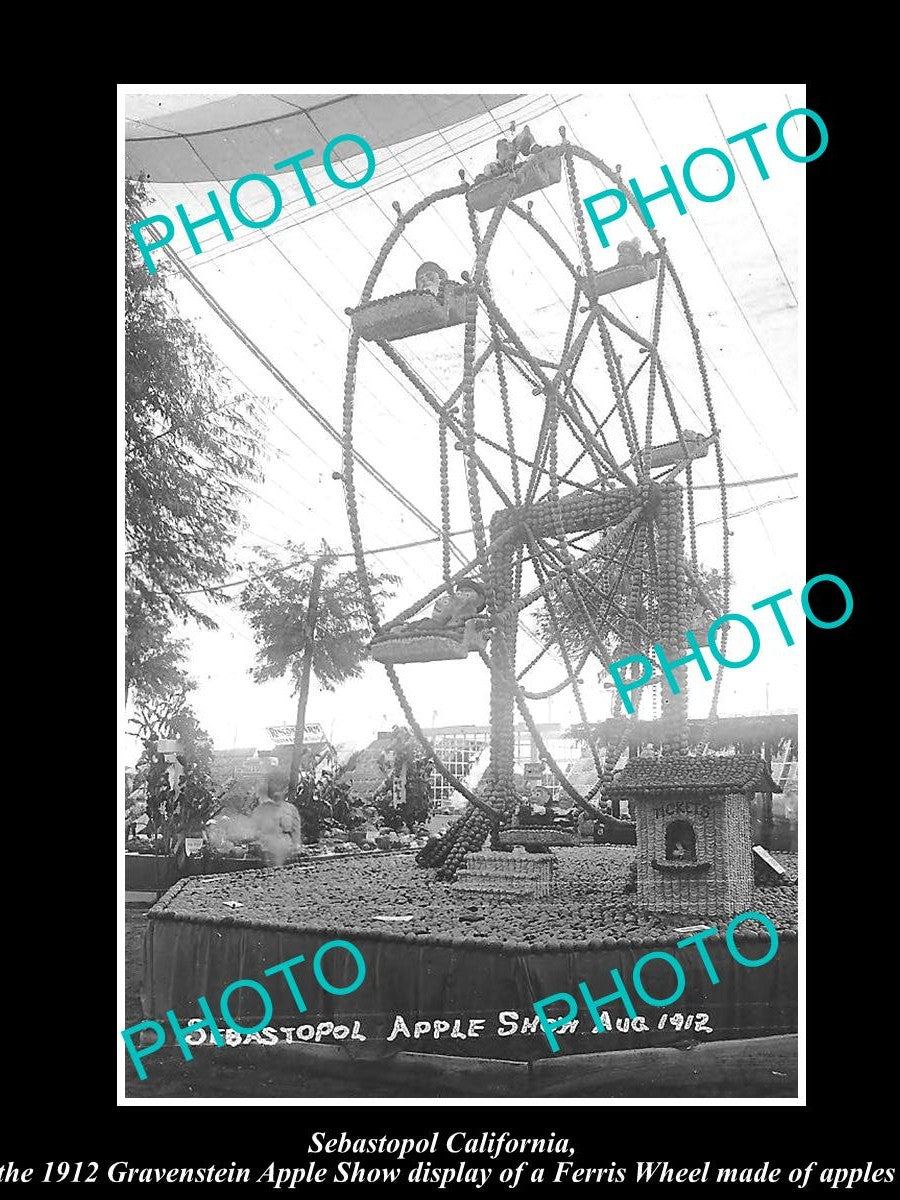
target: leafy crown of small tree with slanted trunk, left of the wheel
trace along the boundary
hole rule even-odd
[[[307,607],[313,565],[324,557],[319,590],[312,671],[318,683],[329,691],[344,679],[359,676],[372,628],[362,600],[355,571],[338,571],[337,558],[330,552],[322,556],[288,542],[284,547],[290,565],[264,548],[257,551],[258,562],[250,583],[241,595],[241,608],[257,641],[257,683],[290,676],[294,690],[300,686],[302,652],[307,646]],[[392,575],[370,575],[372,596],[378,607],[392,595],[398,582]]]

